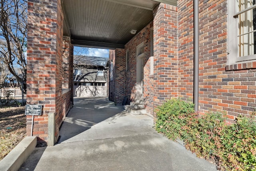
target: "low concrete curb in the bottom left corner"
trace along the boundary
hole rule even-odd
[[[25,137],[0,161],[1,171],[18,171],[20,166],[36,149],[36,137]]]

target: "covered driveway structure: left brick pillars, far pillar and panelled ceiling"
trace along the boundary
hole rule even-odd
[[[116,104],[125,94],[126,43],[154,20],[153,10],[176,0],[28,0],[27,103],[43,105],[32,135],[54,145],[73,105],[73,47],[116,50]],[[120,66],[120,67],[118,67]],[[142,79],[141,79],[142,80]],[[27,117],[28,135],[32,117]]]

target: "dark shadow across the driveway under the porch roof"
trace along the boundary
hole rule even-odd
[[[74,107],[70,109],[60,127],[58,143],[65,143],[66,140],[83,133],[106,119],[109,123],[115,123],[118,117],[126,115],[122,113],[123,110],[122,106],[114,105],[114,102],[108,101],[106,97],[75,97]],[[80,141],[79,139],[76,137],[76,140],[70,141]]]

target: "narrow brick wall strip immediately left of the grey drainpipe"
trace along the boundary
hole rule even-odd
[[[178,97],[193,101],[194,18],[193,0],[178,1]]]

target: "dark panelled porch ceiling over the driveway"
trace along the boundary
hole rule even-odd
[[[72,44],[94,48],[124,48],[153,20],[160,2],[177,6],[177,0],[62,0],[63,35]]]

